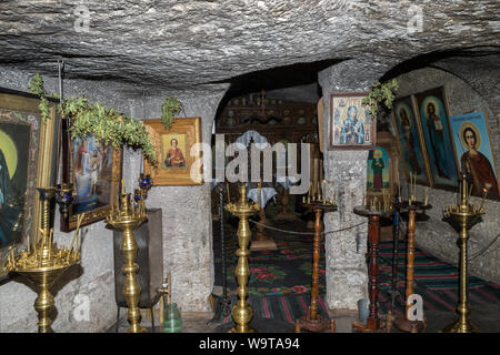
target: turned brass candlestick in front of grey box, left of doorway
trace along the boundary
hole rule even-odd
[[[143,207],[143,200],[139,202],[136,209],[130,200],[130,193],[123,193],[120,196],[120,207],[111,209],[110,214],[106,220],[114,230],[121,231],[121,252],[123,254],[124,265],[121,268],[126,278],[123,285],[123,295],[127,300],[128,320],[130,327],[128,333],[146,333],[146,328],[140,325],[141,313],[138,307],[139,297],[141,294],[141,286],[137,280],[139,265],[136,263],[138,245],[133,230],[147,221],[146,209]]]

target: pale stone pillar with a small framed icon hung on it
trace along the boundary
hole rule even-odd
[[[366,264],[368,220],[356,215],[367,190],[369,151],[328,151],[330,94],[332,92],[368,91],[389,69],[372,60],[348,60],[319,72],[323,92],[324,179],[337,186],[337,212],[324,215],[324,230],[348,229],[326,235],[327,304],[330,310],[357,310],[357,302],[368,297]]]

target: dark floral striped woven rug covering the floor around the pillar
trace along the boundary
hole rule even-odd
[[[290,225],[283,229],[291,230]],[[229,229],[228,229],[229,230]],[[294,225],[294,231],[304,230],[302,225]],[[217,226],[214,226],[214,232]],[[237,257],[236,237],[232,233],[227,234],[228,251],[228,294],[232,306],[238,302],[236,296],[237,283],[234,280],[234,267]],[[252,252],[249,258],[252,274],[249,280],[249,303],[253,308],[256,317],[274,318],[293,323],[294,320],[307,313],[310,304],[311,285],[311,237],[297,236],[269,231],[277,242],[277,251]],[[216,284],[221,285],[221,258],[218,253],[217,236],[214,236],[216,260]],[[406,243],[401,242],[398,254],[398,291],[397,315],[404,311],[406,287]],[[319,274],[319,300],[318,311],[322,316],[328,316],[324,280],[324,250],[321,247],[320,274]],[[391,288],[391,262],[392,242],[383,242],[380,245],[380,270],[379,270],[379,310],[384,314],[390,306]],[[458,304],[459,270],[458,267],[440,261],[439,258],[416,250],[416,286],[414,292],[423,298],[424,311],[456,311]],[[488,303],[500,302],[500,286],[476,276],[469,276],[469,301],[471,307]],[[221,314],[219,322],[232,322],[230,314]]]

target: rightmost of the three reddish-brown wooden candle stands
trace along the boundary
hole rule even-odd
[[[408,303],[408,297],[413,294],[413,271],[414,271],[414,230],[417,210],[428,210],[431,205],[424,205],[422,202],[412,201],[409,205],[408,201],[397,204],[398,210],[408,210],[408,245],[407,245],[407,288],[406,288],[406,307],[404,316],[397,317],[394,325],[398,329],[407,333],[421,333],[426,331],[426,321],[408,320],[408,310],[412,304]]]

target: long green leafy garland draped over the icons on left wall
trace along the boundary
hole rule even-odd
[[[29,90],[40,97],[39,108],[43,121],[50,118],[48,94],[39,73],[34,74]],[[140,148],[151,164],[158,163],[151,136],[142,121],[129,118],[114,109],[107,109],[101,102],[90,104],[84,98],[64,99],[62,104],[58,104],[58,109],[63,118],[71,118],[69,128],[71,139],[91,134],[104,144],[111,143],[114,148],[122,145]]]

